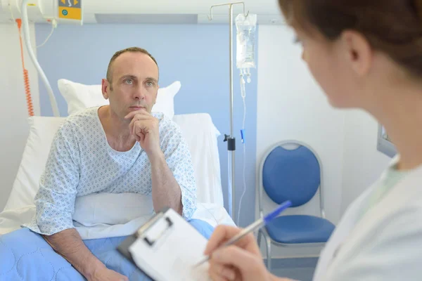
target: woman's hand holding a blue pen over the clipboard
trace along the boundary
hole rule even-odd
[[[252,235],[246,235],[236,245],[217,249],[241,229],[231,226],[217,226],[205,249],[211,254],[209,274],[212,280],[276,280],[264,266],[260,249]]]

